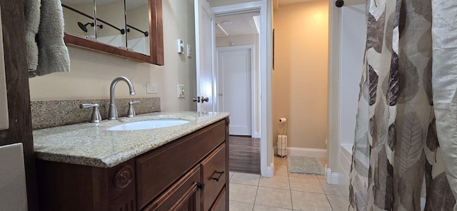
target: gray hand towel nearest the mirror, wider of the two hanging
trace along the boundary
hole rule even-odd
[[[41,1],[38,49],[37,76],[70,71],[69,51],[64,43],[64,14],[60,0]]]

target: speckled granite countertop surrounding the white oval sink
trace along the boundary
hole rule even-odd
[[[134,118],[103,120],[99,124],[80,123],[34,130],[35,157],[60,163],[111,168],[228,116],[229,113],[221,112],[157,112],[136,115]],[[191,122],[149,130],[106,130],[121,123],[163,118]]]

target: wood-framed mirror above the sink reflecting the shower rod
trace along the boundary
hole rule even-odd
[[[164,65],[161,0],[62,0],[65,43]]]

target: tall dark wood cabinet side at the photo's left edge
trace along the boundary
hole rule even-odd
[[[1,38],[8,101],[9,128],[0,130],[0,146],[22,143],[28,210],[37,210],[34,142],[31,128],[23,1],[0,0]],[[1,178],[0,178],[1,180]],[[3,193],[2,193],[3,194]],[[1,207],[1,205],[0,205]],[[4,207],[1,207],[4,208]],[[1,210],[0,208],[0,210]]]

